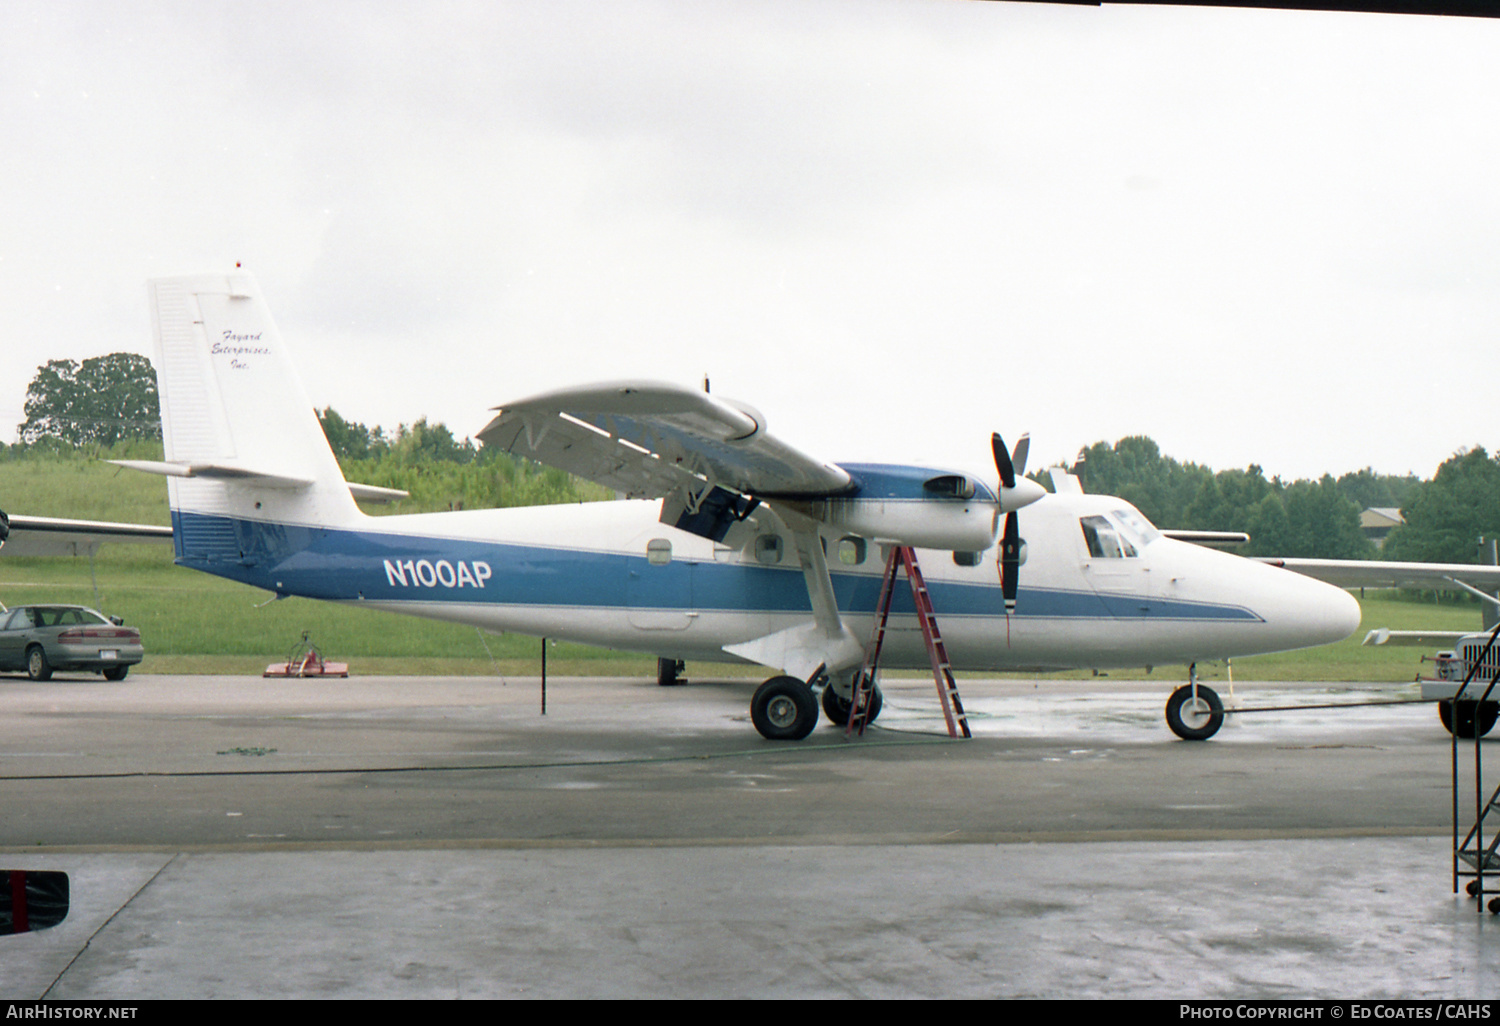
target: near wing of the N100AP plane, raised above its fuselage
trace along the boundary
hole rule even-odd
[[[618,381],[496,406],[480,441],[597,482],[630,498],[718,484],[759,498],[822,498],[854,488],[826,464],[772,438],[742,404],[681,386]]]

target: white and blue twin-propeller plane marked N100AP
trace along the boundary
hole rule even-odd
[[[1221,660],[1350,634],[1359,606],[1287,570],[1179,542],[1128,502],[1022,477],[828,464],[756,410],[614,382],[506,404],[486,446],[622,494],[615,502],[366,516],[324,440],[255,280],[150,284],[177,562],[278,596],[774,670],[752,699],[766,738],[849,706],[891,546],[916,549],[957,670]],[[1020,464],[1020,466],[1017,466]],[[1002,531],[1004,524],[1004,531]],[[897,588],[884,666],[926,668]],[[872,696],[872,710],[874,706]],[[1210,736],[1218,696],[1179,687],[1167,720]]]

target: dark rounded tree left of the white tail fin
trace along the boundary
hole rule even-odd
[[[135,352],[84,360],[48,360],[26,392],[21,441],[56,438],[70,446],[112,446],[123,438],[160,438],[156,370]]]

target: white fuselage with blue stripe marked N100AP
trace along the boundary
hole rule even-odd
[[[808,620],[792,537],[772,512],[723,543],[658,513],[657,501],[616,501],[332,528],[177,512],[174,528],[183,566],[278,594],[670,658],[744,662],[724,646]],[[1328,644],[1359,624],[1347,592],[1161,537],[1116,498],[1048,495],[1020,516],[1026,562],[1010,618],[993,548],[918,550],[956,669],[1194,663]],[[844,622],[868,638],[882,544],[837,530],[822,540]],[[927,664],[902,582],[882,663]]]

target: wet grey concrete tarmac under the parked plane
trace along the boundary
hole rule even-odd
[[[0,999],[1500,996],[1431,706],[1182,742],[1173,686],[964,680],[951,741],[894,680],[772,744],[752,681],[0,678],[0,868],[74,900]]]

